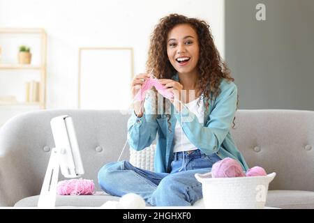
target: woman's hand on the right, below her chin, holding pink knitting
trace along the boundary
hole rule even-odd
[[[160,84],[163,84],[167,91],[170,91],[174,95],[174,100],[170,100],[174,107],[181,111],[181,90],[183,89],[183,85],[179,82],[174,81],[173,79],[159,79]]]

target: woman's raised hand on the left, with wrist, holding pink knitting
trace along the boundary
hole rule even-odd
[[[140,91],[142,84],[144,83],[145,79],[149,78],[149,76],[150,76],[149,74],[141,73],[133,77],[132,81],[130,82],[132,100],[134,100],[135,95],[137,94],[138,91]],[[139,100],[134,100],[133,102],[134,112],[137,115],[137,117],[142,117],[144,113],[144,106],[142,106],[142,104],[144,105],[144,103]]]

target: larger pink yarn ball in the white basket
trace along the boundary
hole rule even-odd
[[[227,157],[216,162],[211,168],[211,176],[213,178],[224,177],[241,177],[246,176],[242,170],[241,165],[237,160]]]

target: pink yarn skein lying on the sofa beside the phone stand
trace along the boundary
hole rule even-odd
[[[82,178],[62,180],[57,184],[57,193],[59,195],[88,195],[94,194],[94,190],[94,181]]]

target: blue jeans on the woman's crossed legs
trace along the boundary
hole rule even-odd
[[[208,173],[218,160],[218,155],[199,149],[174,153],[170,174],[133,167],[127,161],[110,162],[98,172],[98,183],[107,194],[139,194],[151,206],[191,206],[202,199],[202,184],[194,175]]]

